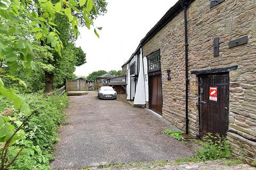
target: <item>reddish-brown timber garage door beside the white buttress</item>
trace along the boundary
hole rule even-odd
[[[150,78],[150,108],[162,115],[162,79],[161,75]]]

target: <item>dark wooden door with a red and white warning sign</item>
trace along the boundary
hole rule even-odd
[[[199,78],[201,137],[207,132],[225,135],[228,130],[228,73],[203,75]]]

